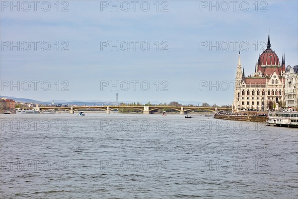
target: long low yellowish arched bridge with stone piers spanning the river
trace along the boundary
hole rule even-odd
[[[151,114],[152,111],[154,110],[158,110],[158,109],[163,109],[163,108],[167,108],[167,109],[172,109],[172,110],[177,110],[180,111],[180,114],[187,114],[187,111],[190,110],[200,110],[200,109],[204,109],[204,110],[210,110],[213,112],[219,112],[219,111],[224,111],[224,110],[231,110],[231,108],[226,108],[226,107],[201,107],[201,106],[116,106],[116,105],[112,105],[112,106],[67,106],[67,107],[56,107],[56,106],[48,106],[48,107],[35,107],[35,110],[39,110],[39,111],[45,111],[45,110],[49,110],[49,109],[55,109],[55,110],[69,110],[70,113],[74,113],[74,111],[76,110],[82,110],[82,109],[98,109],[98,110],[102,110],[105,111],[106,113],[110,113],[110,111],[112,110],[116,110],[119,108],[124,108],[124,109],[129,109],[129,108],[133,108],[136,110],[141,110],[143,111],[144,114]]]

